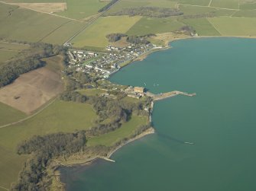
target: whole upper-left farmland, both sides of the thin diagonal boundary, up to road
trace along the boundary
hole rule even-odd
[[[76,33],[83,23],[0,3],[0,37],[28,42],[61,44]],[[11,15],[9,14],[11,11]],[[3,19],[5,18],[5,19]],[[44,41],[45,39],[45,41]]]

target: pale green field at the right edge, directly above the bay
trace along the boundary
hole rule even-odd
[[[208,18],[223,36],[256,36],[256,18]]]

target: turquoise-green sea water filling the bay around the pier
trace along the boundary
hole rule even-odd
[[[196,97],[157,102],[157,133],[118,150],[116,163],[64,168],[67,189],[256,190],[256,40],[202,38],[171,46],[128,65],[111,81]]]

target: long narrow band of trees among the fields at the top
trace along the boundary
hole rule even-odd
[[[123,8],[121,11],[106,13],[105,16],[140,15],[151,18],[167,18],[170,16],[179,16],[182,14],[183,12],[179,11],[177,8],[138,7]]]

